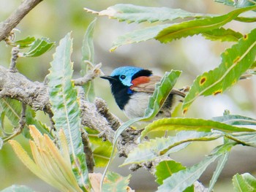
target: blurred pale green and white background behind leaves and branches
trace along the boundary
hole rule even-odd
[[[181,8],[189,12],[211,14],[225,14],[233,9],[233,7],[218,4],[213,0],[42,1],[17,26],[20,32],[16,33],[16,39],[23,39],[28,36],[49,37],[51,41],[56,42],[58,45],[59,40],[69,31],[72,31],[72,37],[74,38],[72,54],[75,69],[74,77],[79,77],[80,47],[83,34],[91,20],[96,16],[85,12],[83,7],[100,11],[118,3]],[[0,22],[5,20],[19,4],[20,1],[18,0],[0,0]],[[159,75],[164,74],[165,71],[170,71],[170,69],[178,69],[183,73],[176,86],[183,87],[192,85],[198,74],[217,67],[221,61],[219,55],[232,45],[230,42],[211,42],[203,37],[195,36],[176,40],[166,45],[151,40],[139,44],[125,45],[119,47],[113,53],[109,52],[113,41],[119,35],[148,25],[148,23],[131,23],[128,25],[117,20],[109,20],[106,17],[98,18],[94,32],[95,63],[102,63],[102,70],[105,74],[110,74],[117,66],[124,65],[141,66],[151,69],[155,74]],[[227,27],[241,31],[241,33],[248,33],[252,28],[255,28],[255,23],[233,21],[228,23]],[[39,58],[19,58],[18,69],[20,73],[26,75],[30,80],[43,81],[45,75],[48,74],[54,50],[55,48]],[[5,45],[4,42],[0,42],[0,62],[2,66],[7,67],[10,64],[10,51],[11,47]],[[221,95],[206,98],[200,97],[192,104],[186,117],[208,119],[222,115],[224,110],[227,109],[233,114],[256,118],[255,85],[256,79],[253,77],[250,80],[238,82],[237,85]],[[95,91],[97,96],[108,102],[108,106],[113,113],[118,115],[121,120],[127,120],[110,95],[110,87],[107,81],[102,79],[95,80]],[[174,115],[181,116],[181,110],[176,110]],[[47,118],[42,113],[39,112],[38,116],[47,123]],[[19,136],[17,139],[23,145],[28,146],[28,141],[23,136]],[[203,155],[209,153],[213,146],[216,145],[217,142],[198,142],[182,153],[175,154],[172,158],[189,166],[200,161]],[[215,191],[233,191],[231,177],[236,172],[255,172],[255,152],[255,149],[250,149],[249,147],[236,147],[230,155],[230,161],[224,169],[224,173],[219,179],[220,183],[216,186]],[[121,161],[123,160],[117,159],[112,168],[114,169],[116,164],[120,164]],[[207,170],[208,172],[201,178],[201,181],[206,185],[211,178],[212,170]],[[102,170],[99,169],[99,171]],[[130,173],[127,167],[117,169],[116,172],[120,172],[123,175]],[[10,145],[7,144],[0,150],[0,190],[12,184],[29,185],[37,191],[55,191],[31,174],[17,159]],[[144,170],[133,174],[130,186],[137,189],[137,191],[155,191],[157,188],[154,183],[154,177]]]

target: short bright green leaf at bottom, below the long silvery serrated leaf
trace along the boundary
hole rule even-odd
[[[155,176],[157,177],[157,183],[159,185],[162,185],[163,180],[165,180],[167,177],[170,177],[170,175],[172,175],[173,173],[179,172],[182,169],[186,169],[186,167],[176,161],[161,161],[156,166]]]

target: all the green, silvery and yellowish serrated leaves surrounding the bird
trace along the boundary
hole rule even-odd
[[[167,7],[139,7],[132,4],[116,4],[108,7],[101,12],[94,12],[98,15],[107,15],[109,18],[127,23],[141,23],[156,21],[166,22],[170,20],[181,19],[179,23],[169,23],[154,25],[142,28],[138,31],[132,31],[118,37],[110,50],[115,50],[121,45],[129,43],[143,42],[148,39],[157,39],[159,42],[167,43],[173,39],[181,39],[195,34],[201,34],[206,39],[214,41],[234,42],[234,45],[222,53],[221,64],[216,69],[205,72],[196,77],[189,93],[184,99],[182,105],[183,112],[186,113],[189,106],[199,96],[216,95],[227,90],[244,77],[244,73],[255,74],[255,55],[256,55],[256,29],[249,34],[241,34],[239,31],[233,31],[231,28],[224,28],[226,23],[232,20],[240,22],[255,22],[255,18],[240,17],[241,13],[253,11],[256,9],[256,1],[230,1],[218,0],[223,4],[236,7],[225,15],[208,15],[187,12],[182,9],[170,9]],[[86,9],[91,12],[91,10]],[[182,20],[185,19],[186,20]],[[92,35],[94,31],[95,20],[90,24],[83,40],[83,62],[82,75],[86,74],[91,65],[94,65],[94,47]],[[52,43],[45,39],[36,41],[27,38],[23,41],[13,43],[14,46],[31,47],[25,56],[36,56],[45,53]],[[26,46],[28,45],[28,46]],[[35,118],[34,111],[26,110],[26,123],[29,126],[31,139],[32,160],[25,150],[15,140],[10,140],[17,133],[7,134],[4,131],[4,118],[9,118],[13,126],[17,127],[21,113],[20,104],[12,99],[0,99],[1,106],[1,133],[5,136],[0,137],[0,148],[3,142],[10,140],[15,153],[24,164],[53,187],[60,191],[91,191],[94,188],[102,188],[102,191],[126,191],[129,184],[129,177],[122,177],[114,172],[107,172],[108,166],[113,158],[115,146],[120,134],[132,123],[141,120],[151,120],[159,112],[161,104],[167,98],[173,85],[175,85],[181,72],[167,72],[162,81],[156,85],[156,90],[151,96],[143,118],[128,120],[116,131],[113,139],[113,150],[110,142],[101,145],[99,138],[95,139],[97,134],[89,128],[83,128],[89,134],[91,145],[94,151],[94,157],[104,156],[105,158],[95,158],[96,166],[106,166],[105,182],[102,186],[94,185],[89,178],[89,171],[86,166],[86,155],[83,152],[83,143],[80,131],[80,108],[78,101],[78,91],[72,83],[72,62],[70,55],[72,53],[72,39],[70,34],[61,39],[59,46],[56,47],[56,53],[51,62],[50,74],[48,75],[48,86],[50,93],[50,102],[52,104],[53,121],[55,123],[56,134],[48,132],[49,128]],[[248,75],[248,73],[246,74]],[[93,101],[93,82],[88,82],[83,86],[86,93],[86,99]],[[15,113],[16,112],[16,113]],[[140,144],[132,150],[124,165],[141,164],[147,161],[154,161],[161,156],[167,156],[184,149],[195,141],[212,141],[222,138],[223,143],[215,147],[212,152],[203,158],[198,164],[190,167],[184,167],[176,161],[161,161],[156,167],[155,177],[159,184],[158,191],[194,191],[193,184],[200,177],[206,168],[218,161],[216,170],[208,185],[208,191],[212,191],[217,182],[219,174],[225,166],[228,155],[232,147],[244,145],[256,147],[256,131],[248,126],[256,126],[256,120],[241,115],[230,115],[226,112],[221,117],[215,117],[211,120],[195,118],[165,118],[149,123],[141,133]],[[24,128],[24,130],[27,130]],[[37,131],[39,130],[39,131]],[[172,137],[157,137],[149,141],[144,141],[149,133],[156,131],[176,131]],[[23,131],[26,137],[28,133]],[[44,135],[42,135],[44,134]],[[57,144],[52,142],[53,137],[58,138]],[[58,146],[58,147],[56,147]],[[106,147],[107,146],[107,147]],[[108,149],[108,150],[106,150]],[[105,151],[105,153],[102,153]],[[106,153],[106,151],[108,151]],[[105,159],[109,159],[106,161]],[[169,172],[167,172],[169,170]],[[106,174],[106,175],[105,175]],[[233,186],[235,191],[255,191],[256,178],[251,174],[236,174],[233,176]],[[12,186],[4,191],[24,190],[24,186]],[[29,189],[26,188],[28,191]],[[31,191],[31,190],[30,190]]]

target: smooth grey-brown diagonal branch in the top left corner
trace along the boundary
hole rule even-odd
[[[7,20],[0,23],[0,42],[10,36],[11,31],[15,28],[34,7],[42,0],[24,0],[20,6],[12,12]]]

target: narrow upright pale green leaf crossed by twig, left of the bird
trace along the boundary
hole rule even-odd
[[[86,75],[86,73],[93,68],[92,64],[94,64],[94,26],[96,23],[96,18],[89,24],[86,29],[86,34],[83,37],[83,46],[82,46],[82,64],[80,74],[82,76]],[[85,97],[87,101],[94,101],[94,83],[89,81],[86,85],[83,85],[83,91],[85,93]]]

